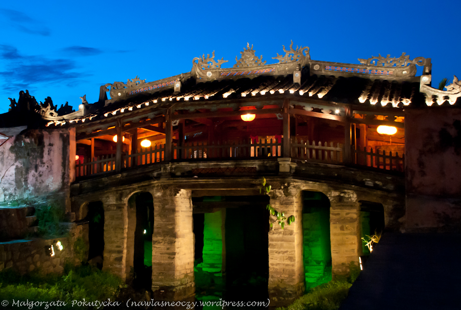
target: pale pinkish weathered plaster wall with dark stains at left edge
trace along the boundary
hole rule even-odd
[[[0,202],[42,198],[69,211],[70,130],[25,129],[0,129],[12,136],[0,147]]]

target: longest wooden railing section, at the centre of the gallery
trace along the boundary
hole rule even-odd
[[[173,147],[173,159],[231,159],[231,158],[267,158],[282,156],[282,141],[243,140],[224,143],[185,143]]]

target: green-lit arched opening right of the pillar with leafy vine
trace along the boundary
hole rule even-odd
[[[303,191],[303,255],[306,289],[332,280],[330,200],[319,191]]]

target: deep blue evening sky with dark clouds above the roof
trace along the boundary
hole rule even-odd
[[[0,113],[26,89],[77,108],[105,83],[189,72],[213,50],[230,68],[247,42],[268,64],[290,40],[314,60],[432,58],[438,87],[461,78],[460,9],[459,0],[1,1]]]

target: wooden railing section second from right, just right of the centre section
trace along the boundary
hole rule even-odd
[[[330,146],[326,142],[322,146],[320,141],[316,145],[315,141],[310,144],[308,140],[304,142],[293,139],[291,141],[291,157],[313,162],[342,163],[343,147],[339,143],[334,146],[333,142],[330,142]]]

